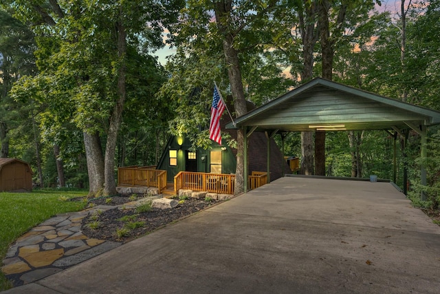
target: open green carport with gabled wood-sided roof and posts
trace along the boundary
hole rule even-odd
[[[438,124],[440,124],[440,112],[435,110],[397,101],[324,78],[315,78],[253,109],[248,114],[236,118],[234,123],[229,123],[226,128],[245,130],[244,188],[247,191],[248,150],[246,146],[247,138],[252,132],[265,132],[269,142],[269,139],[276,134],[285,132],[384,130],[390,134],[392,132],[395,139],[397,136],[402,136],[406,141],[408,132],[412,129],[421,137],[421,158],[426,158],[427,127]],[[394,151],[394,157],[396,157],[396,151]],[[267,156],[267,166],[270,166],[270,156]],[[404,182],[406,182],[405,176]],[[426,169],[423,165],[421,165],[421,183],[426,185]]]

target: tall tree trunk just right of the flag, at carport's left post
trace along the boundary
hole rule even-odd
[[[231,21],[230,12],[232,9],[232,0],[223,0],[214,2],[215,17],[217,28],[223,36],[223,52],[225,54],[226,66],[228,67],[228,77],[231,86],[232,97],[234,99],[234,110],[236,116],[241,116],[248,112],[245,101],[243,83],[241,81],[241,70],[239,64],[239,54],[234,49],[234,37],[229,31],[228,24]],[[245,131],[237,131],[237,155],[235,170],[234,193],[238,194],[244,191],[244,136]]]

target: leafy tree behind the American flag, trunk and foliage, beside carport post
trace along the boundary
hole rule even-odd
[[[263,45],[270,40],[270,32],[267,31],[267,28],[270,28],[270,25],[267,25],[268,14],[270,14],[274,5],[275,1],[220,0],[203,1],[203,3],[190,1],[187,3],[186,8],[181,11],[181,22],[171,31],[174,34],[173,40],[176,41],[178,50],[181,50],[177,56],[186,56],[191,60],[197,60],[197,62],[211,64],[212,67],[208,71],[211,72],[209,76],[212,79],[218,77],[223,80],[223,74],[227,74],[228,83],[226,85],[232,94],[235,116],[241,116],[248,111],[245,101],[248,93],[245,92],[245,88],[249,89],[249,87],[243,85],[244,78],[241,70],[243,63],[246,61],[244,57],[248,58],[252,54],[261,56],[259,54],[265,49]],[[219,53],[223,55],[220,59]],[[185,62],[188,63],[188,61]],[[197,74],[204,72],[204,69],[200,70],[197,63],[194,66],[197,68]],[[189,74],[189,76],[194,76],[194,74]],[[189,76],[186,77],[186,81],[190,80]],[[179,76],[179,78],[182,78],[182,76]],[[201,97],[205,101],[205,105],[209,105],[210,101],[207,101],[207,97],[210,96],[211,100],[212,95],[204,93],[212,92],[212,82],[210,85],[205,83],[192,84],[192,87],[201,85],[203,85]],[[190,92],[190,90],[186,91],[187,94],[190,94]],[[199,106],[201,105],[197,107]],[[195,107],[192,107],[192,109],[195,109]],[[206,108],[203,111],[206,112]],[[202,120],[206,122],[208,117],[204,114],[197,117],[197,119],[201,123]],[[178,125],[180,125],[180,131],[187,132],[191,128],[189,127],[190,124],[186,123]],[[196,126],[196,128],[199,126],[197,124],[191,125]],[[237,167],[234,189],[236,193],[240,193],[244,189],[244,134],[244,130],[239,130],[236,145]]]

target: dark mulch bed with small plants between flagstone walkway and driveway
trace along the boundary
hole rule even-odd
[[[89,200],[94,205],[120,205],[131,201],[133,201],[133,198],[124,196],[113,196],[111,197],[111,202],[106,200],[106,198]],[[179,200],[177,199],[177,201]],[[173,209],[152,208],[151,211],[141,213],[137,213],[135,209],[109,209],[96,213],[95,216],[89,215],[84,218],[81,224],[81,231],[89,238],[128,242],[133,238],[155,231],[159,227],[206,209],[218,202],[217,200],[206,201],[204,199],[189,198]],[[96,229],[91,229],[89,224],[92,222],[98,222]]]

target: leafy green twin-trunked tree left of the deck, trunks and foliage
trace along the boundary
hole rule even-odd
[[[83,130],[89,194],[112,195],[115,145],[126,101],[127,48],[162,45],[159,22],[166,23],[173,13],[165,10],[169,14],[162,17],[162,3],[151,1],[21,4],[29,9],[17,13],[39,34],[38,81],[48,93],[41,99],[55,115],[67,111],[62,116],[73,116]]]

